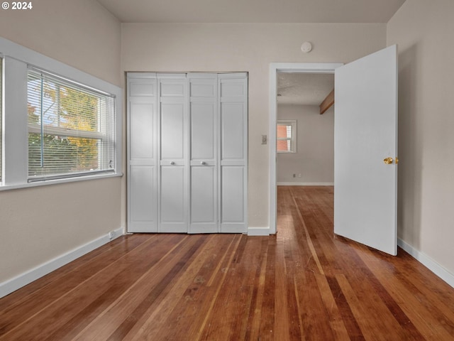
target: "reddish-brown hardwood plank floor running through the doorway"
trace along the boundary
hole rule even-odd
[[[332,187],[277,193],[277,235],[118,238],[0,299],[0,340],[454,340],[454,288],[333,237]]]

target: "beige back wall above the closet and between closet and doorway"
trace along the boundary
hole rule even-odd
[[[249,227],[268,227],[269,67],[348,63],[386,46],[384,24],[123,23],[124,71],[249,72]],[[301,53],[301,43],[314,44]]]

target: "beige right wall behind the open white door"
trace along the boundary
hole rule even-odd
[[[399,237],[454,274],[454,1],[408,0],[399,45]]]

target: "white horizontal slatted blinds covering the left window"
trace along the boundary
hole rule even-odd
[[[110,94],[30,68],[28,181],[115,169],[115,103]]]

